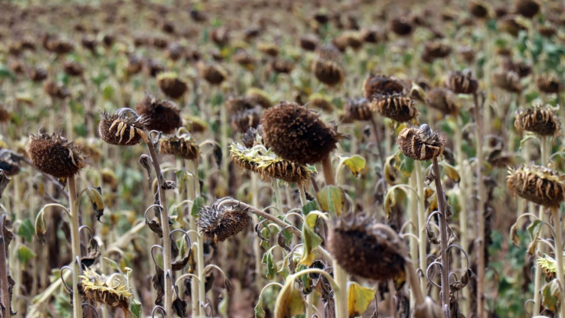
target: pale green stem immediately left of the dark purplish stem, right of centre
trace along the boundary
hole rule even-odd
[[[420,271],[425,273],[428,268],[427,251],[426,247],[428,245],[427,238],[425,234],[425,195],[424,195],[424,176],[422,173],[422,164],[420,160],[414,160],[414,172],[416,174],[416,189],[418,191],[418,237],[420,238]],[[427,295],[426,290],[426,278],[425,275],[420,276],[420,288],[421,293]]]

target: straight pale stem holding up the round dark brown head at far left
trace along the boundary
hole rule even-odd
[[[75,176],[68,178],[69,205],[71,207],[71,244],[72,244],[72,310],[74,318],[82,318],[82,300],[79,293],[80,275],[80,235],[79,206],[77,204]]]

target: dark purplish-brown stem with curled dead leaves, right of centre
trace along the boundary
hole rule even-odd
[[[437,206],[440,211],[440,243],[441,243],[441,304],[446,313],[445,318],[449,318],[449,255],[447,255],[447,212],[445,208],[445,195],[441,187],[440,165],[437,164],[437,157],[432,158],[432,169],[436,184]]]

